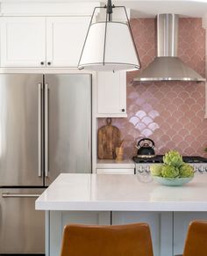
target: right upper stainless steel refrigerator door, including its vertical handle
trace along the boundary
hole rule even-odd
[[[45,173],[91,172],[91,76],[45,77]]]

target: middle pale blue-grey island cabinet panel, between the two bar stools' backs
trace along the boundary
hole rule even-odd
[[[172,212],[112,212],[112,224],[148,223],[154,256],[173,255]]]

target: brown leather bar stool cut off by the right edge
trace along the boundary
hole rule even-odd
[[[189,223],[183,256],[207,256],[207,222]]]

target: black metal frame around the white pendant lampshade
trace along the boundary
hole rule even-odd
[[[112,13],[113,13],[113,8],[124,8],[125,10],[125,6],[115,6],[114,4],[111,4],[111,0],[108,0],[108,3],[107,5],[104,5],[103,7],[102,6],[99,6],[99,7],[95,7],[94,8],[94,11],[92,13],[92,16],[90,18],[90,22],[89,22],[89,28],[92,24],[92,21],[93,21],[93,18],[94,18],[94,14],[95,14],[95,11],[96,9],[106,9],[106,18],[105,18],[105,33],[104,33],[104,48],[103,48],[103,66],[105,64],[105,43],[106,43],[106,31],[107,31],[107,24],[108,22],[112,22]],[[131,38],[132,38],[132,43],[133,43],[133,47],[135,49],[135,53],[137,55],[137,58],[139,60],[139,69],[141,68],[141,63],[140,63],[140,59],[139,59],[139,55],[138,55],[138,51],[137,51],[137,48],[136,48],[136,45],[135,45],[135,42],[133,40],[133,36],[132,36],[132,28],[130,26],[130,21],[129,21],[129,18],[128,18],[128,15],[127,15],[127,12],[125,10],[125,17],[126,17],[126,20],[127,20],[127,25],[129,27],[129,30],[130,30],[130,34],[131,34]],[[95,22],[96,23],[96,22]],[[89,28],[88,28],[88,31],[87,31],[87,34],[86,34],[86,37],[85,37],[85,40],[84,40],[84,44],[83,44],[83,47],[82,47],[82,53],[83,53],[83,50],[85,48],[85,43],[86,43],[86,40],[88,38],[88,35],[89,35]],[[81,62],[81,59],[82,59],[82,53],[81,53],[81,56],[80,56],[80,59],[79,59],[79,62],[78,62],[78,67],[79,67],[79,64]],[[116,64],[117,62],[115,62],[114,64]],[[92,64],[92,63],[91,63]],[[96,63],[93,63],[93,64],[96,64]],[[126,63],[119,63],[119,64],[126,64]],[[84,69],[84,68],[80,68],[80,69]]]

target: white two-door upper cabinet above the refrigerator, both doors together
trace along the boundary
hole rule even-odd
[[[89,17],[5,17],[0,23],[2,67],[76,68]]]

